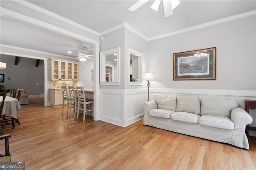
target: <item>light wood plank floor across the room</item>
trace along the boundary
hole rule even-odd
[[[126,128],[86,117],[61,115],[61,107],[43,107],[30,99],[18,111],[21,125],[10,133],[12,161],[35,169],[255,169],[256,137],[250,150],[186,136],[138,121]],[[4,142],[1,142],[1,152]]]

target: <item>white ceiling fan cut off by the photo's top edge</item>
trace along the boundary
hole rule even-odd
[[[149,0],[139,0],[134,5],[132,5],[128,10],[135,11],[148,1]],[[150,7],[153,10],[158,11],[161,1],[163,2],[165,17],[171,16],[173,14],[173,9],[180,4],[180,1],[178,0],[155,0],[155,2]]]

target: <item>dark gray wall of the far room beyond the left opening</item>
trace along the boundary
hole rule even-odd
[[[4,74],[5,89],[26,89],[29,95],[44,95],[44,61],[40,60],[36,67],[36,59],[20,57],[18,65],[14,65],[15,56],[0,55],[0,61],[7,64],[6,69],[0,69]],[[11,79],[9,80],[8,77]],[[39,85],[36,85],[39,84]]]

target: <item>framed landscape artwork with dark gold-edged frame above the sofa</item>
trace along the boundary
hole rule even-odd
[[[173,80],[215,80],[216,47],[173,54]]]

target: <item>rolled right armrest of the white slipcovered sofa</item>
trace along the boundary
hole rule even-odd
[[[233,109],[230,113],[230,118],[234,122],[234,130],[242,132],[245,131],[246,125],[252,123],[252,117],[241,107]]]

